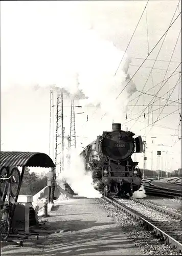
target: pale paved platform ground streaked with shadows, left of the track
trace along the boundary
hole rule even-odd
[[[45,229],[52,234],[26,241],[24,247],[3,245],[2,255],[142,255],[122,227],[92,199],[57,202]]]

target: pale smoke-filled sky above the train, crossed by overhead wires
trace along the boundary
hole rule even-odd
[[[123,130],[127,127],[146,140],[147,168],[158,169],[156,151],[162,151],[160,168],[180,168],[181,15],[164,43],[163,37],[157,44],[173,15],[174,20],[180,13],[178,2],[1,2],[1,151],[49,154],[50,89],[54,88],[56,104],[56,88],[63,87],[71,95],[82,91],[88,97],[75,101],[75,105],[82,105],[82,109],[75,109],[78,152],[103,131],[110,131],[114,120],[122,123]],[[164,99],[153,100],[158,90],[157,96]],[[146,94],[136,98],[142,91]],[[70,131],[71,96],[67,95],[65,136]],[[150,105],[148,114],[149,103],[152,109]],[[157,110],[165,104],[164,110]],[[145,108],[145,117],[143,113],[134,119]],[[80,112],[84,114],[77,115]],[[55,115],[54,108],[54,128]],[[55,143],[51,146],[54,160]],[[143,167],[143,154],[136,155],[132,158]]]

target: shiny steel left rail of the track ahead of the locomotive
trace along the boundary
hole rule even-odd
[[[157,226],[152,224],[152,222],[155,224],[156,224],[156,222],[151,221],[148,217],[143,216],[138,211],[133,210],[130,207],[128,207],[120,202],[117,202],[115,199],[111,199],[111,198],[108,198],[105,196],[103,196],[103,199],[112,203],[116,207],[122,209],[123,211],[128,213],[130,216],[134,217],[135,219],[139,220],[139,222],[141,224],[143,224],[145,226],[145,228],[147,228],[149,230],[153,230],[153,234],[155,234],[156,236],[161,236],[165,240],[165,243],[169,244],[170,247],[172,247],[172,248],[175,247],[176,250],[178,251],[178,253],[182,252],[182,244],[180,242],[178,242],[177,240],[175,240],[173,237],[171,237],[169,234],[167,234],[165,231],[163,231],[161,228],[158,228]]]

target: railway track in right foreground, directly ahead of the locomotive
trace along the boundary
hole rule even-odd
[[[110,202],[111,204],[115,205],[116,207],[120,208],[124,212],[128,213],[134,219],[139,220],[139,222],[142,225],[144,225],[145,228],[147,228],[148,230],[152,230],[152,233],[154,235],[161,237],[161,239],[163,239],[166,244],[169,244],[171,248],[176,248],[178,253],[182,252],[182,236],[181,236],[182,225],[181,225],[181,222],[179,223],[179,222],[175,222],[175,221],[174,222],[154,221],[154,220],[148,218],[147,216],[145,216],[144,214],[141,214],[141,212],[132,209],[132,207],[130,207],[124,203],[118,202],[116,199],[105,197],[105,196],[103,196],[103,199]],[[131,201],[131,200],[129,200],[129,201]],[[152,206],[150,205],[150,207],[152,207]],[[155,207],[155,206],[153,206],[153,207]],[[155,207],[155,209],[157,209],[156,207]],[[162,207],[160,207],[160,208],[162,208]],[[162,210],[162,209],[159,209],[159,210]],[[166,213],[167,213],[167,211],[166,211]],[[169,214],[169,212],[168,212],[168,214]],[[174,212],[174,214],[176,214],[176,212]],[[176,215],[174,217],[176,218]],[[177,218],[179,218],[179,216]]]

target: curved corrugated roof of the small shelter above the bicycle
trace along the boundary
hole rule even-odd
[[[44,153],[1,151],[2,166],[55,167],[53,160]]]

